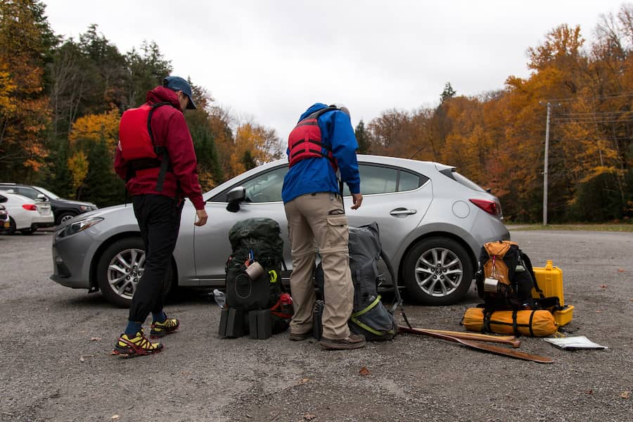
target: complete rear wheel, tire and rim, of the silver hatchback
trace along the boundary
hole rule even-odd
[[[411,248],[402,268],[407,296],[422,305],[451,305],[466,295],[473,263],[451,238],[426,238]]]

